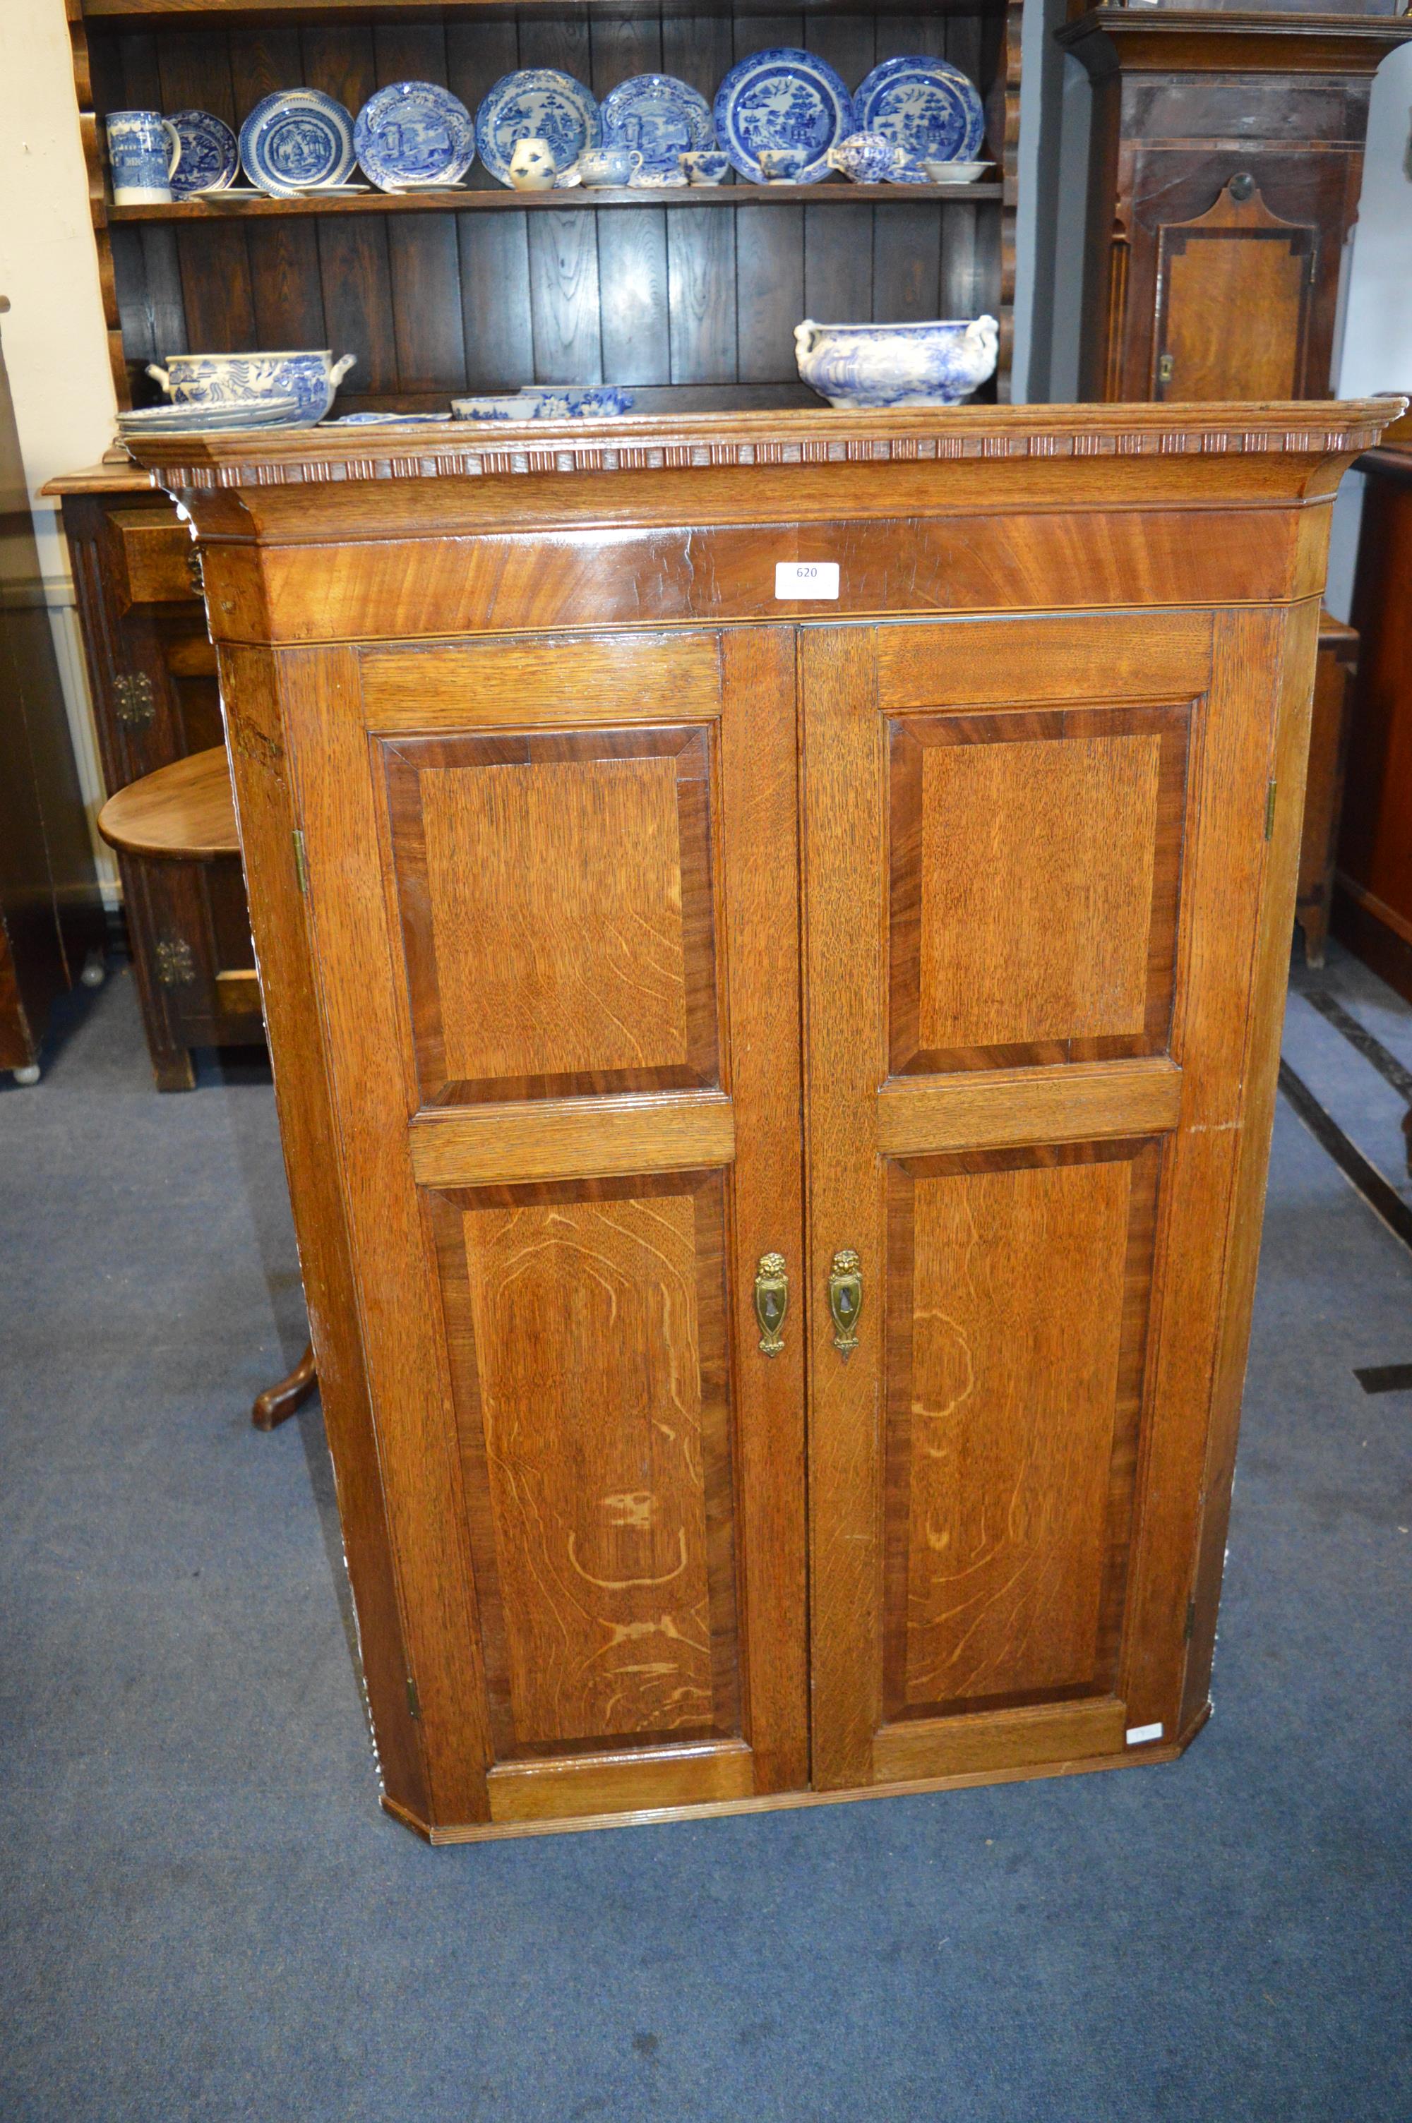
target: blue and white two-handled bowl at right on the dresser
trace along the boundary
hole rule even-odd
[[[798,374],[830,405],[960,405],[996,374],[994,316],[794,327]]]

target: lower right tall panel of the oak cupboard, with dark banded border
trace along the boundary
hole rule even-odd
[[[883,1711],[1106,1694],[1159,1153],[892,1166]]]

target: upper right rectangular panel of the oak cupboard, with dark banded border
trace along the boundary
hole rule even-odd
[[[1187,707],[890,726],[894,1074],[1155,1053]]]

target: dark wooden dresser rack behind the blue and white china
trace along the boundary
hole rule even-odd
[[[811,405],[794,325],[1000,318],[1009,397],[1019,138],[1019,0],[767,13],[671,0],[68,0],[93,227],[119,399],[157,393],[180,350],[331,346],[357,355],[340,410],[446,408],[461,391],[620,382],[639,410]],[[987,106],[996,180],[934,187],[728,185],[645,195],[510,193],[480,163],[465,197],[110,204],[102,119],[115,108],[240,119],[308,83],[350,110],[399,79],[476,110],[516,66],[561,66],[601,98],[665,70],[707,98],[771,45],[830,59],[849,87],[902,51],[953,59]]]

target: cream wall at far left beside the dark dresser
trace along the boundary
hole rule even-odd
[[[55,471],[96,463],[113,442],[113,372],[98,287],[64,0],[0,0],[0,293],[4,365],[30,495]],[[68,550],[57,505],[34,499],[45,597],[89,819],[102,802]],[[108,896],[113,856],[96,841]]]

